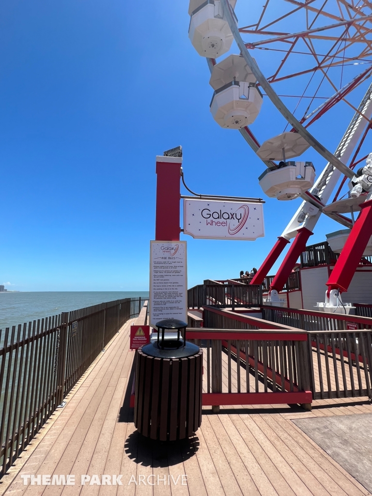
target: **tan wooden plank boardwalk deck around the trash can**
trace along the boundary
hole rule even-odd
[[[291,421],[371,413],[368,398],[317,400],[311,412],[288,405],[241,405],[221,407],[214,415],[205,407],[201,428],[187,442],[157,443],[138,435],[129,408],[132,322],[3,478],[0,491],[6,488],[6,496],[370,495]],[[242,387],[243,381],[242,375]],[[21,475],[30,474],[36,481],[38,475],[73,474],[75,484],[31,485],[29,479],[24,485]],[[82,486],[84,474],[90,482],[93,475],[101,480],[103,474],[121,474],[122,485]]]

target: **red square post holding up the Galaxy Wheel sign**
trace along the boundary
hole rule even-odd
[[[181,157],[156,157],[156,225],[158,241],[180,241]]]

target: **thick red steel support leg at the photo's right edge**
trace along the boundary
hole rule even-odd
[[[339,289],[341,293],[348,290],[368,240],[371,238],[372,200],[362,203],[361,207],[362,211],[355,221],[345,246],[342,248],[334,269],[326,282],[328,294],[332,289]]]

